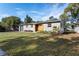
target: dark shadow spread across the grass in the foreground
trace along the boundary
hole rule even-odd
[[[79,37],[67,40],[48,37],[18,37],[0,42],[1,48],[8,55],[15,56],[75,56],[79,55]]]

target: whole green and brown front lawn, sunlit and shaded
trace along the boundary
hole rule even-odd
[[[47,33],[1,32],[0,48],[9,56],[75,56],[79,55],[79,36],[74,36],[69,40]]]

